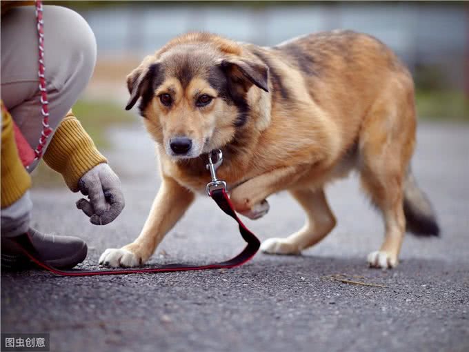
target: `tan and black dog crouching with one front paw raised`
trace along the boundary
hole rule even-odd
[[[415,148],[414,84],[381,41],[348,30],[319,32],[274,47],[189,33],[147,56],[127,77],[129,110],[139,102],[159,155],[161,187],[131,244],[107,249],[99,263],[140,266],[177,223],[210,175],[238,213],[268,211],[265,199],[288,190],[306,213],[303,228],[267,239],[261,250],[299,254],[321,241],[336,219],[324,186],[357,170],[383,215],[384,241],[368,264],[398,264],[406,230],[438,235],[435,212],[410,170]]]

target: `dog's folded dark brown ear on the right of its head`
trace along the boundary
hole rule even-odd
[[[264,63],[245,59],[224,59],[221,61],[220,66],[223,72],[225,72],[234,83],[241,84],[243,90],[246,92],[252,84],[266,92],[269,91],[269,68]]]

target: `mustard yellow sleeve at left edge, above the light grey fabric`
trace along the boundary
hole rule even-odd
[[[31,177],[19,159],[12,117],[1,105],[1,208],[12,205],[31,187]]]

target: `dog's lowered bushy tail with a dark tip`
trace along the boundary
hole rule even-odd
[[[404,182],[403,210],[406,216],[407,231],[417,236],[439,235],[440,230],[435,211],[428,197],[417,186],[410,166]]]

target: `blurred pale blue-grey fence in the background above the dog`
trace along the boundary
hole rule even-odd
[[[79,12],[94,30],[101,57],[143,57],[191,30],[271,46],[308,32],[346,28],[387,43],[414,74],[421,73],[417,84],[466,86],[469,92],[467,3],[123,2]]]

